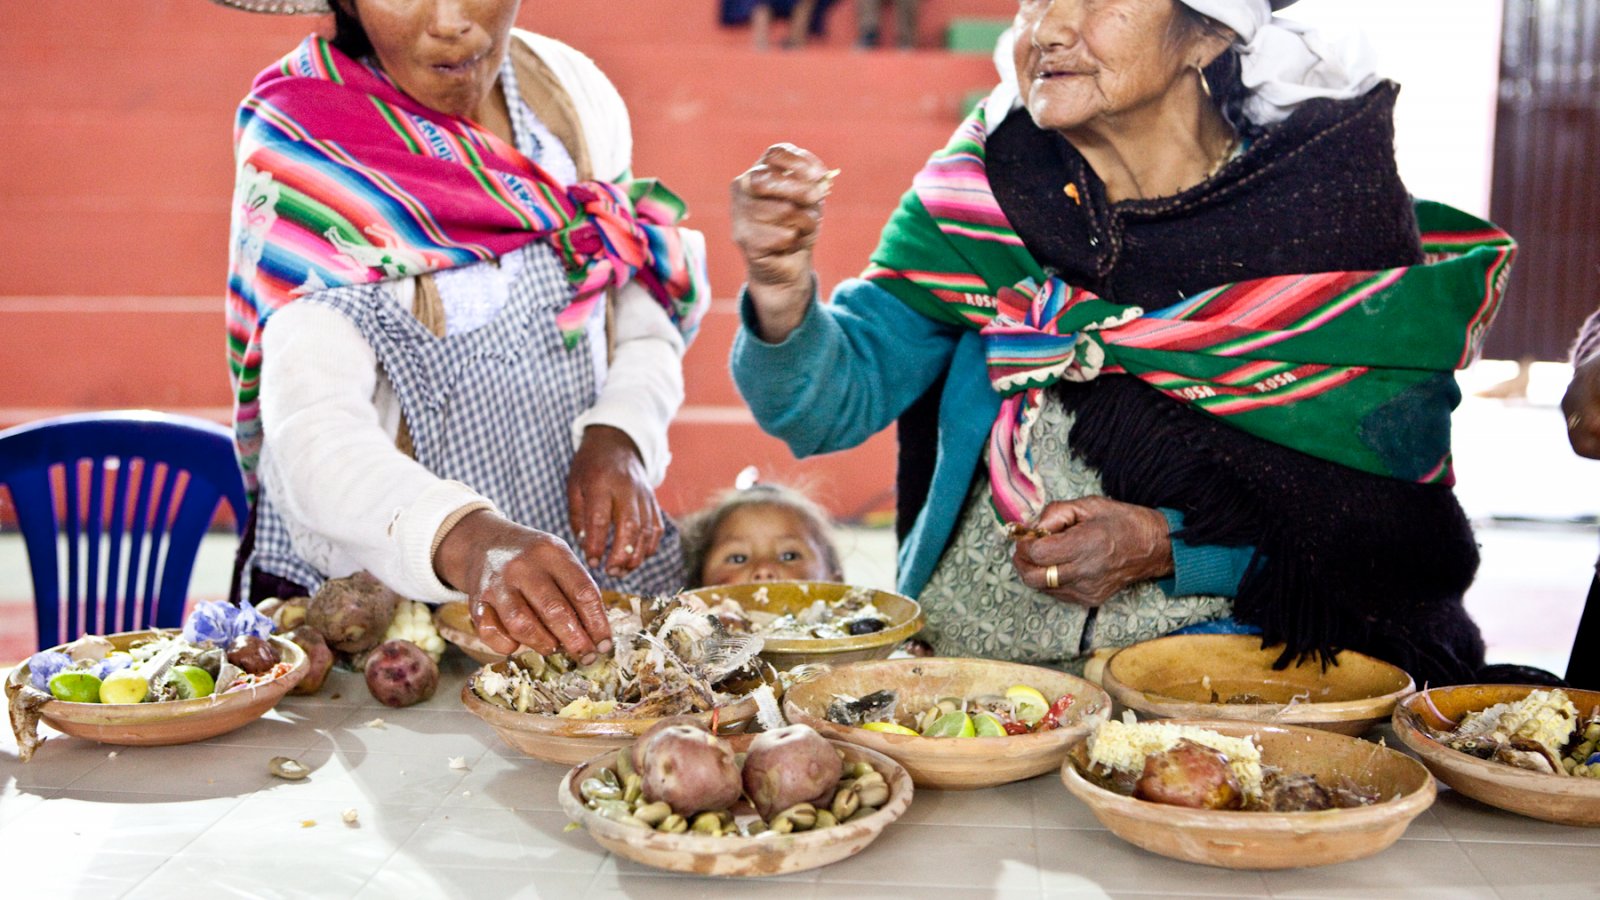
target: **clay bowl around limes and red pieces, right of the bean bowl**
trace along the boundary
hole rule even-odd
[[[1059,729],[997,738],[925,738],[870,732],[829,722],[827,706],[835,695],[862,697],[890,689],[899,695],[899,709],[918,711],[941,697],[1005,693],[1027,684],[1054,700],[1062,693],[1078,698],[1067,709]],[[893,757],[910,772],[918,788],[970,790],[1021,781],[1061,765],[1067,748],[1110,713],[1106,692],[1093,684],[1038,666],[997,660],[910,658],[851,663],[797,684],[784,693],[784,714],[790,722],[811,725],[824,737],[866,746]]]

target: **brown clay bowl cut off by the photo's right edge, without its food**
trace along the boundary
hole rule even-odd
[[[1525,684],[1464,684],[1414,693],[1395,708],[1395,737],[1421,756],[1422,764],[1440,781],[1475,801],[1544,822],[1600,825],[1600,778],[1546,775],[1490,762],[1450,749],[1422,729],[1450,729],[1451,722],[1461,721],[1467,713],[1522,700],[1530,690],[1539,689]],[[1563,690],[1582,716],[1600,706],[1600,692]]]

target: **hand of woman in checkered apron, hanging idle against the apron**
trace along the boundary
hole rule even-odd
[[[656,492],[638,447],[621,429],[605,424],[584,429],[566,476],[566,511],[589,569],[600,567],[606,536],[611,538],[605,570],[613,578],[638,569],[661,544]]]

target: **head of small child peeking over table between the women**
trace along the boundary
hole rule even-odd
[[[843,581],[832,530],[827,512],[790,487],[730,490],[683,522],[690,586]]]

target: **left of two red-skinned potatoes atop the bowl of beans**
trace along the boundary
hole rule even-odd
[[[635,770],[645,799],[666,801],[672,812],[723,810],[739,799],[739,764],[733,748],[699,722],[651,729],[635,745]]]

